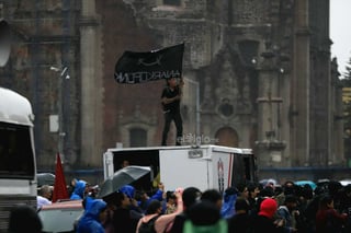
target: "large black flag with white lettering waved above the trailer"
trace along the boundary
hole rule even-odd
[[[143,83],[160,79],[181,78],[184,43],[152,51],[124,51],[114,78],[118,83]]]

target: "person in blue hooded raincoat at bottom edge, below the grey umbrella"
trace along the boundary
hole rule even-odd
[[[80,218],[77,233],[104,233],[102,223],[107,217],[107,205],[101,199],[87,199],[86,211]]]

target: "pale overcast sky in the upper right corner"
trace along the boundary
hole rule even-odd
[[[338,58],[339,72],[351,58],[351,0],[330,0],[331,56]]]

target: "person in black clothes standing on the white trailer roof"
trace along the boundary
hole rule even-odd
[[[182,97],[181,88],[184,82],[180,80],[178,83],[176,78],[166,80],[167,86],[162,91],[161,104],[163,107],[165,125],[162,132],[162,145],[167,145],[167,137],[170,129],[171,121],[174,121],[177,129],[176,145],[181,145],[183,135],[183,121],[180,114],[180,101]]]

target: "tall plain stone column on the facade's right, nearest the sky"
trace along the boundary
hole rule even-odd
[[[292,80],[292,151],[294,165],[303,166],[309,161],[309,79],[310,35],[308,28],[308,3],[295,1],[295,39]]]

